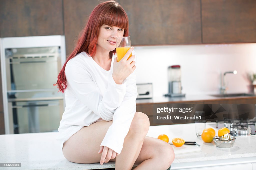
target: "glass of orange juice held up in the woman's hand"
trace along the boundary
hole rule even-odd
[[[124,55],[127,53],[127,51],[130,48],[131,48],[130,36],[123,36],[123,37],[116,38],[117,62],[119,62],[124,57]],[[130,54],[129,58],[131,56],[132,56],[132,53]]]

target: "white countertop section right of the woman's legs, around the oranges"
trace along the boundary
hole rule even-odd
[[[206,128],[218,129],[215,123],[207,123]],[[166,134],[169,140],[172,138],[183,138],[185,141],[196,141],[201,146],[201,151],[177,154],[171,169],[187,169],[209,166],[222,166],[232,164],[256,163],[256,136],[236,137],[231,148],[218,148],[215,143],[205,143],[196,136],[195,124],[178,124],[151,126],[147,136],[157,138],[160,134]]]

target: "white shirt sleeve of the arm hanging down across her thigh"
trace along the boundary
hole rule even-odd
[[[135,62],[136,61],[135,57]],[[101,142],[101,146],[106,146],[119,154],[123,149],[124,138],[130,129],[132,119],[136,112],[136,98],[138,94],[136,87],[136,69],[127,77],[126,83],[124,99],[121,105],[114,111],[113,123]]]

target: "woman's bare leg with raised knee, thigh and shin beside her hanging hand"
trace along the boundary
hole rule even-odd
[[[109,122],[102,120],[100,122],[93,123],[88,127],[83,127],[77,133],[72,135],[63,144],[62,152],[65,158],[75,163],[100,162],[101,154],[98,154],[100,144],[112,123],[113,120]],[[115,159],[110,160],[116,162],[117,168],[122,167],[121,169],[124,169],[124,167],[132,167],[134,165],[134,162],[140,153],[143,139],[146,136],[148,128],[148,117],[144,113],[136,112],[129,132],[124,139],[124,147],[119,155],[119,161],[116,162]],[[126,140],[129,140],[128,142],[132,142],[132,148],[126,149]],[[118,159],[118,156],[116,159]]]

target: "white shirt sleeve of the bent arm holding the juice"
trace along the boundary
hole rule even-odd
[[[113,120],[114,110],[121,105],[126,92],[126,82],[116,84],[109,75],[105,93],[100,93],[89,72],[78,66],[66,66],[65,75],[69,89],[95,114],[106,121]]]

